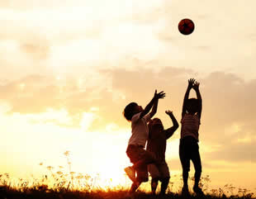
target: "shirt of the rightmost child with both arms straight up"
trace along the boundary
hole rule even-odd
[[[181,139],[186,136],[192,136],[198,141],[198,130],[200,126],[199,117],[197,115],[185,114],[182,118]]]

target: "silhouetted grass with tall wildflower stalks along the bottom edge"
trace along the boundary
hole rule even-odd
[[[55,171],[53,167],[47,166],[48,174],[41,176],[41,178],[30,179],[14,179],[8,173],[0,174],[0,199],[119,199],[119,198],[133,198],[133,199],[153,199],[153,198],[184,198],[180,195],[182,188],[182,178],[177,176],[175,182],[173,177],[168,184],[167,194],[165,196],[152,196],[148,191],[141,187],[135,192],[132,197],[128,195],[129,186],[117,185],[116,187],[107,186],[100,187],[97,180],[100,178],[96,176],[92,178],[88,174],[74,173],[71,171],[71,163],[69,161],[69,151],[64,155],[67,158],[69,172],[64,172],[64,168],[59,166],[59,171]],[[44,166],[40,163],[40,166]],[[193,178],[190,178],[190,186],[192,187]],[[210,177],[207,175],[201,177],[200,187],[206,193],[204,197],[196,197],[192,195],[188,198],[230,198],[230,199],[252,199],[254,193],[246,188],[237,188],[232,184],[226,184],[222,188],[209,189]],[[178,186],[178,187],[174,187]],[[178,190],[174,192],[173,190]],[[192,188],[190,188],[192,190]]]

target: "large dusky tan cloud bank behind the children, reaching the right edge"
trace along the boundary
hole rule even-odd
[[[107,73],[112,75],[113,89],[123,93],[127,103],[130,99],[130,102],[139,102],[145,107],[154,88],[164,90],[167,97],[159,102],[159,111],[171,107],[178,120],[187,78],[197,75],[192,70],[172,67],[159,72],[152,69],[116,69]],[[235,74],[216,72],[199,78],[199,82],[203,98],[200,140],[202,145],[209,147],[220,145],[216,152],[209,153],[207,159],[254,161],[256,81],[245,82]],[[164,123],[168,122],[162,112],[158,116],[164,118]],[[250,142],[246,143],[246,140]]]

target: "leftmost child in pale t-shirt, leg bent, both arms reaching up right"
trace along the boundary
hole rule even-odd
[[[124,110],[127,121],[131,121],[131,136],[126,149],[126,154],[130,158],[133,166],[125,168],[125,172],[133,182],[130,192],[135,192],[141,182],[148,181],[147,165],[155,161],[154,156],[145,150],[145,144],[149,137],[147,122],[157,111],[160,98],[164,98],[165,93],[155,90],[153,99],[143,109],[135,102],[128,104]],[[153,108],[152,108],[153,107]],[[152,111],[150,111],[152,108]],[[149,112],[150,111],[150,112]],[[135,173],[137,176],[135,177]]]

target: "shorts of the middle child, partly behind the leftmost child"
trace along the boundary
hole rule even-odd
[[[161,161],[159,163],[150,163],[148,165],[148,171],[152,179],[170,178],[168,165],[165,161]]]

